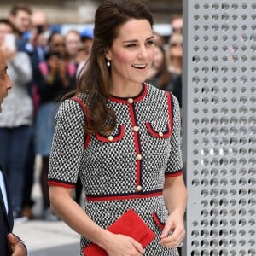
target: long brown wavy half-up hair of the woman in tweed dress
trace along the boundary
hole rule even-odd
[[[90,59],[78,81],[78,92],[89,96],[86,104],[91,123],[84,126],[86,132],[109,134],[116,125],[116,115],[106,105],[111,84],[111,67],[106,65],[105,54],[118,37],[119,27],[131,19],[148,20],[153,26],[149,10],[137,0],[106,0],[96,10]]]

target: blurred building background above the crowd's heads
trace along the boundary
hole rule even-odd
[[[99,0],[23,0],[34,10],[44,10],[52,24],[92,23]],[[18,0],[1,0],[0,17],[9,14],[11,5],[20,3]],[[182,13],[182,0],[148,0],[145,1],[154,15],[155,23],[169,23],[172,14]]]

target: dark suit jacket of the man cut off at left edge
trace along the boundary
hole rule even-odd
[[[2,191],[0,189],[0,254],[1,256],[9,256],[9,248],[7,243],[7,234],[12,232],[14,227],[14,218],[13,218],[13,210],[11,206],[11,200],[9,195],[9,189],[8,189],[8,183],[7,183],[7,177],[6,173],[3,171],[2,166],[0,166],[0,170],[3,173],[4,182],[6,186],[6,193],[8,198],[8,207],[9,207],[9,213],[7,214],[4,202],[3,202],[3,195]]]

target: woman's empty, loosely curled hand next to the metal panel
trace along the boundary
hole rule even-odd
[[[178,247],[184,236],[183,214],[174,211],[166,220],[165,228],[160,236],[160,244],[164,247]]]

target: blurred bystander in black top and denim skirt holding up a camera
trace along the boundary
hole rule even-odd
[[[49,154],[55,130],[55,114],[61,96],[75,88],[75,73],[69,73],[64,37],[53,32],[48,40],[49,54],[46,61],[38,64],[36,74],[40,104],[35,124],[35,153],[42,156],[40,183],[43,194],[44,220],[55,221],[55,214],[49,209],[47,184]]]

